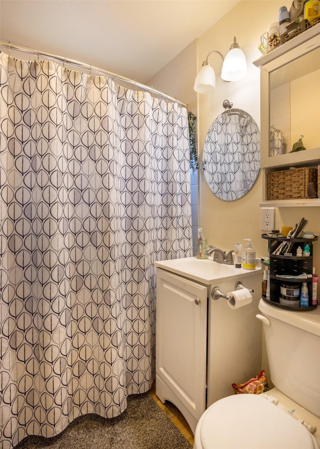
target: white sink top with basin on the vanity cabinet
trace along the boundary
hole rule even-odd
[[[162,260],[154,262],[154,265],[206,285],[211,284],[212,281],[235,279],[239,275],[248,275],[261,271],[259,259],[256,260],[255,270],[244,270],[243,268],[235,268],[234,265],[213,262],[212,257],[208,259],[186,257],[184,259]]]

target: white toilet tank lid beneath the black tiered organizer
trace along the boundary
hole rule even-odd
[[[320,307],[312,310],[286,310],[267,303],[263,299],[259,301],[259,310],[264,315],[276,318],[279,321],[298,327],[306,332],[320,336]]]

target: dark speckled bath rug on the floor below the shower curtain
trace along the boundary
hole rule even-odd
[[[80,416],[53,438],[29,436],[15,449],[191,449],[148,393],[131,395],[119,416]]]

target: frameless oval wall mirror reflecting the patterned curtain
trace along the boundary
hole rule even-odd
[[[260,132],[253,118],[241,109],[220,114],[205,137],[202,165],[215,196],[233,201],[245,195],[260,168]]]

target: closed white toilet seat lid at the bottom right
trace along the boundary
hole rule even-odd
[[[195,449],[319,449],[300,422],[258,394],[210,405],[198,421]]]

